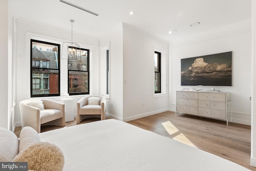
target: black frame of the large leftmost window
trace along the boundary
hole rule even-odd
[[[52,68],[40,68],[40,67],[32,67],[32,42],[36,42],[36,43],[42,43],[42,44],[49,44],[49,45],[53,45],[53,46],[57,46],[58,47],[58,69],[52,69]],[[52,97],[52,96],[60,96],[60,44],[55,44],[55,43],[51,43],[51,42],[44,42],[41,40],[34,40],[34,39],[30,39],[30,97]],[[52,93],[52,94],[34,94],[33,95],[33,68],[35,69],[42,69],[42,70],[57,70],[58,71],[58,93]]]

